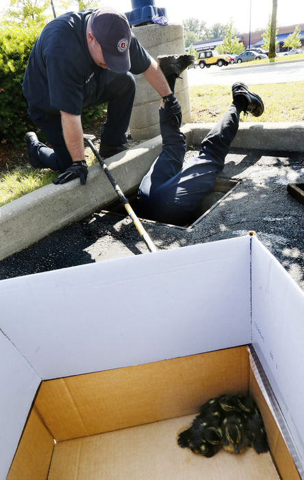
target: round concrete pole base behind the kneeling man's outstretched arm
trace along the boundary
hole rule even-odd
[[[157,60],[159,55],[184,53],[183,27],[179,24],[144,25],[132,28],[142,46]],[[188,74],[184,71],[177,80],[175,95],[181,104],[183,123],[191,122],[190,98],[188,92]],[[134,139],[146,140],[160,134],[158,109],[160,95],[144,80],[142,75],[135,75],[136,96],[129,128]]]

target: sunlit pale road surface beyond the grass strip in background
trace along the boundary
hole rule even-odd
[[[232,85],[236,81],[245,84],[269,84],[284,82],[299,82],[304,80],[303,62],[275,62],[239,67],[238,64],[229,67],[212,65],[210,69],[188,69],[188,85]]]

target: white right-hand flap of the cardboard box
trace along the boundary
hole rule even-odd
[[[253,346],[299,448],[304,474],[304,294],[256,238],[252,243],[252,325]]]

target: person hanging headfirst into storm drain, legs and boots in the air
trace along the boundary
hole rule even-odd
[[[178,56],[171,59],[160,56],[158,59],[174,92],[175,81],[186,68],[185,56],[181,60]],[[181,107],[177,101],[163,99],[160,107],[162,152],[140,183],[134,205],[139,217],[186,226],[199,216],[201,200],[210,192],[216,176],[224,168],[225,157],[238,131],[240,112],[251,113],[254,117],[264,112],[262,99],[249,91],[245,84],[236,82],[231,90],[232,104],[203,139],[199,155],[185,163],[186,137],[179,130]]]

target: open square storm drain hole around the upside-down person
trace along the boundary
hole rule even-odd
[[[214,186],[212,190],[210,190],[210,193],[208,195],[205,195],[203,197],[203,200],[201,200],[201,204],[199,206],[199,216],[197,219],[192,219],[191,224],[188,226],[178,226],[178,225],[172,225],[172,224],[164,224],[160,221],[154,221],[154,220],[149,220],[145,219],[144,217],[140,217],[141,220],[147,221],[151,224],[159,224],[159,225],[164,225],[168,226],[169,228],[177,228],[179,230],[190,230],[191,228],[194,228],[197,226],[197,224],[200,223],[203,218],[208,215],[220,202],[223,202],[223,200],[230,195],[230,193],[236,188],[236,186],[240,183],[240,180],[227,180],[225,178],[216,178],[214,181]],[[129,200],[129,204],[131,205],[132,208],[134,208],[135,200],[136,200],[136,195],[137,195],[137,189],[136,191],[131,191],[127,195],[127,199]],[[136,209],[134,209],[136,213]],[[107,204],[103,210],[102,213],[114,213],[116,215],[121,215],[123,217],[126,216],[126,211],[124,206],[119,202],[119,200],[115,200],[114,202],[111,202],[110,204]]]

